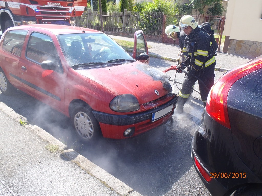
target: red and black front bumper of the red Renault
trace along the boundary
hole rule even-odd
[[[167,103],[145,112],[126,115],[114,115],[93,111],[93,114],[100,124],[103,137],[123,139],[126,138],[123,136],[123,132],[128,128],[133,128],[134,134],[132,136],[136,136],[168,122],[168,120],[170,120],[170,118],[173,116],[176,103],[177,96],[173,97]],[[153,113],[161,111],[168,106],[172,106],[172,111],[165,114],[156,121],[151,120]]]

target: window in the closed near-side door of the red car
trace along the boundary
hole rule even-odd
[[[60,66],[53,40],[45,34],[36,32],[31,34],[25,56],[38,64],[41,64],[43,61],[52,60],[58,67]]]

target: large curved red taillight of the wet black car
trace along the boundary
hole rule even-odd
[[[240,78],[262,68],[262,60],[245,64],[225,73],[209,91],[206,112],[209,116],[230,129],[227,111],[227,95],[231,86]]]

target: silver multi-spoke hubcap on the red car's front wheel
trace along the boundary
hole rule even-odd
[[[75,129],[77,133],[85,140],[90,140],[94,135],[94,126],[85,112],[78,112],[75,114]]]

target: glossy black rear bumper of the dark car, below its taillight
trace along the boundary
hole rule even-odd
[[[209,182],[197,168],[195,158],[212,178]],[[230,195],[240,186],[259,183],[259,179],[238,157],[231,130],[217,123],[207,113],[192,140],[192,160],[198,175],[213,196]]]

